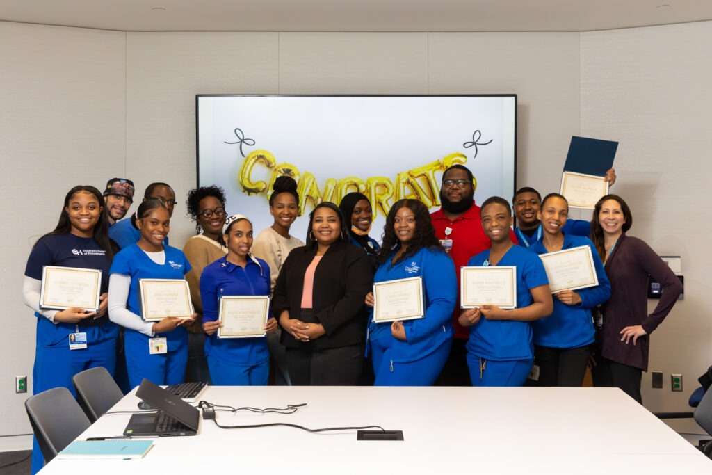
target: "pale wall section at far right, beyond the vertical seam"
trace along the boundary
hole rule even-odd
[[[620,142],[612,191],[632,209],[629,234],[682,256],[685,300],[651,335],[649,369],[665,372],[665,387],[651,389],[649,373],[642,387],[649,409],[685,410],[712,364],[712,22],[581,33],[580,44],[581,133]],[[671,372],[684,392],[670,391]]]

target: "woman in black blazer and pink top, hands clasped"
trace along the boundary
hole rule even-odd
[[[350,244],[333,203],[318,204],[311,212],[306,242],[284,261],[273,296],[290,379],[293,385],[356,385],[372,266],[363,249]]]

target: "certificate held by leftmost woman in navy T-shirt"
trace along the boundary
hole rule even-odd
[[[40,289],[40,308],[66,310],[83,308],[99,311],[101,271],[75,267],[44,266]]]

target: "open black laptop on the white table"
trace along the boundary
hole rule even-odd
[[[195,435],[198,432],[200,411],[181,398],[149,380],[143,380],[137,397],[154,405],[158,412],[133,414],[124,429],[131,437],[172,437]]]

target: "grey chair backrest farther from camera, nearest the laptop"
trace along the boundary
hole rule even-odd
[[[97,366],[72,377],[79,405],[91,422],[95,422],[124,397],[105,367]]]

